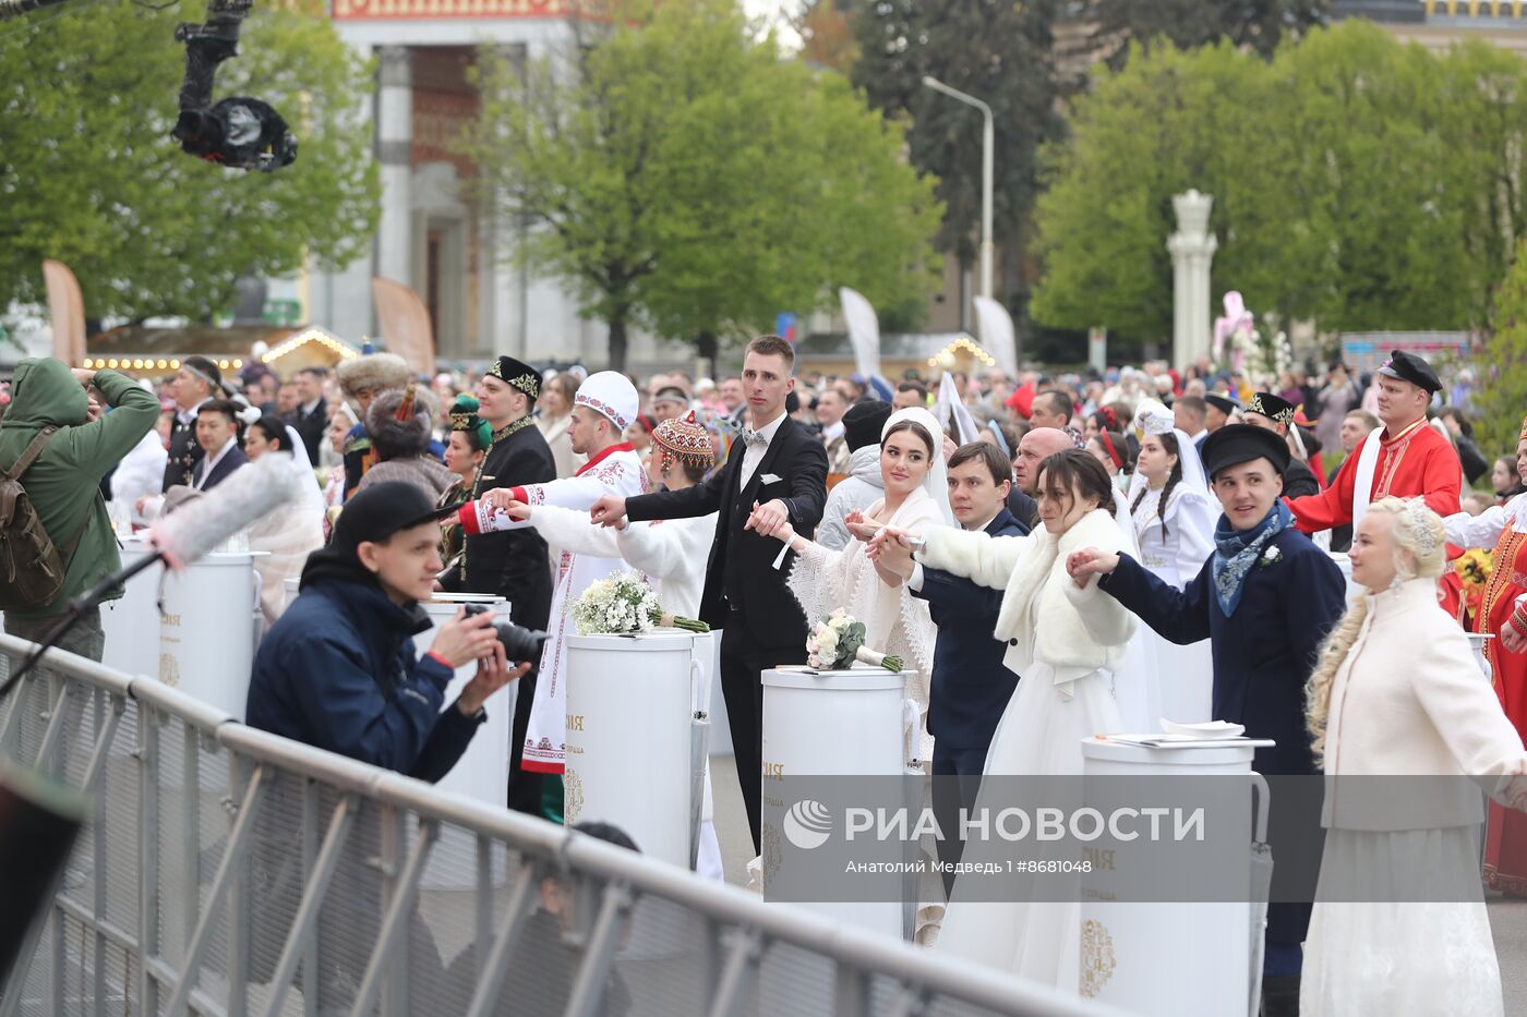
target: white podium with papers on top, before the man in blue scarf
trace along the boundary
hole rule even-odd
[[[1087,780],[1245,777],[1251,773],[1255,745],[1264,744],[1145,748],[1086,739],[1081,751]],[[1248,803],[1248,852],[1251,817]],[[1098,864],[1081,873],[1081,994],[1133,1014],[1223,1017],[1248,1012],[1252,904],[1110,899],[1112,883],[1124,878],[1128,873]]]

